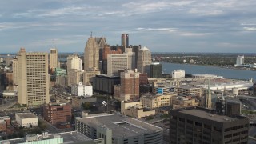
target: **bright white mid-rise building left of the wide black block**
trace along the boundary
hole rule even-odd
[[[76,96],[90,97],[93,95],[93,86],[82,85],[82,82],[79,82],[78,85],[71,86],[71,94]]]

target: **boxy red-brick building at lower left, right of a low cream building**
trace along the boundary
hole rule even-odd
[[[71,122],[71,106],[66,103],[49,103],[43,106],[43,118],[52,125]]]

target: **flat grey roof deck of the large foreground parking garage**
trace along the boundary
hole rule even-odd
[[[154,131],[161,131],[162,128],[146,122],[129,118],[121,114],[107,114],[95,117],[78,118],[92,127],[104,126],[113,130],[113,137],[132,137],[138,134],[146,134]]]

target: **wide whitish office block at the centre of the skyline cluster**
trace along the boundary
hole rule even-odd
[[[134,70],[135,54],[130,48],[125,54],[107,54],[107,75],[118,76],[118,70]]]

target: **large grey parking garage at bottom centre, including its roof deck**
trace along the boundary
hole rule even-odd
[[[103,138],[106,144],[162,144],[162,128],[120,114],[77,118],[75,129],[89,138]]]

